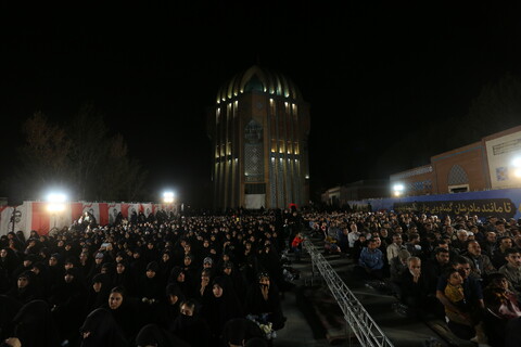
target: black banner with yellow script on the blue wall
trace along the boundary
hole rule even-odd
[[[506,219],[516,215],[516,204],[509,198],[394,203],[393,209],[397,213],[414,211],[437,216],[495,216]]]

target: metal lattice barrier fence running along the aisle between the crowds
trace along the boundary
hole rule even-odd
[[[320,272],[331,294],[342,309],[345,321],[351,326],[351,330],[361,346],[392,347],[393,344],[391,340],[383,334],[382,330],[372,320],[336,271],[331,268],[321,253],[317,250],[315,245],[309,240],[305,240],[303,246],[312,257],[313,271],[317,268]]]

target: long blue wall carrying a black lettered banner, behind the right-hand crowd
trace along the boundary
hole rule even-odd
[[[521,189],[500,189],[440,195],[402,196],[350,201],[350,206],[367,207],[373,211],[416,211],[439,217],[476,215],[480,218],[521,218]]]

